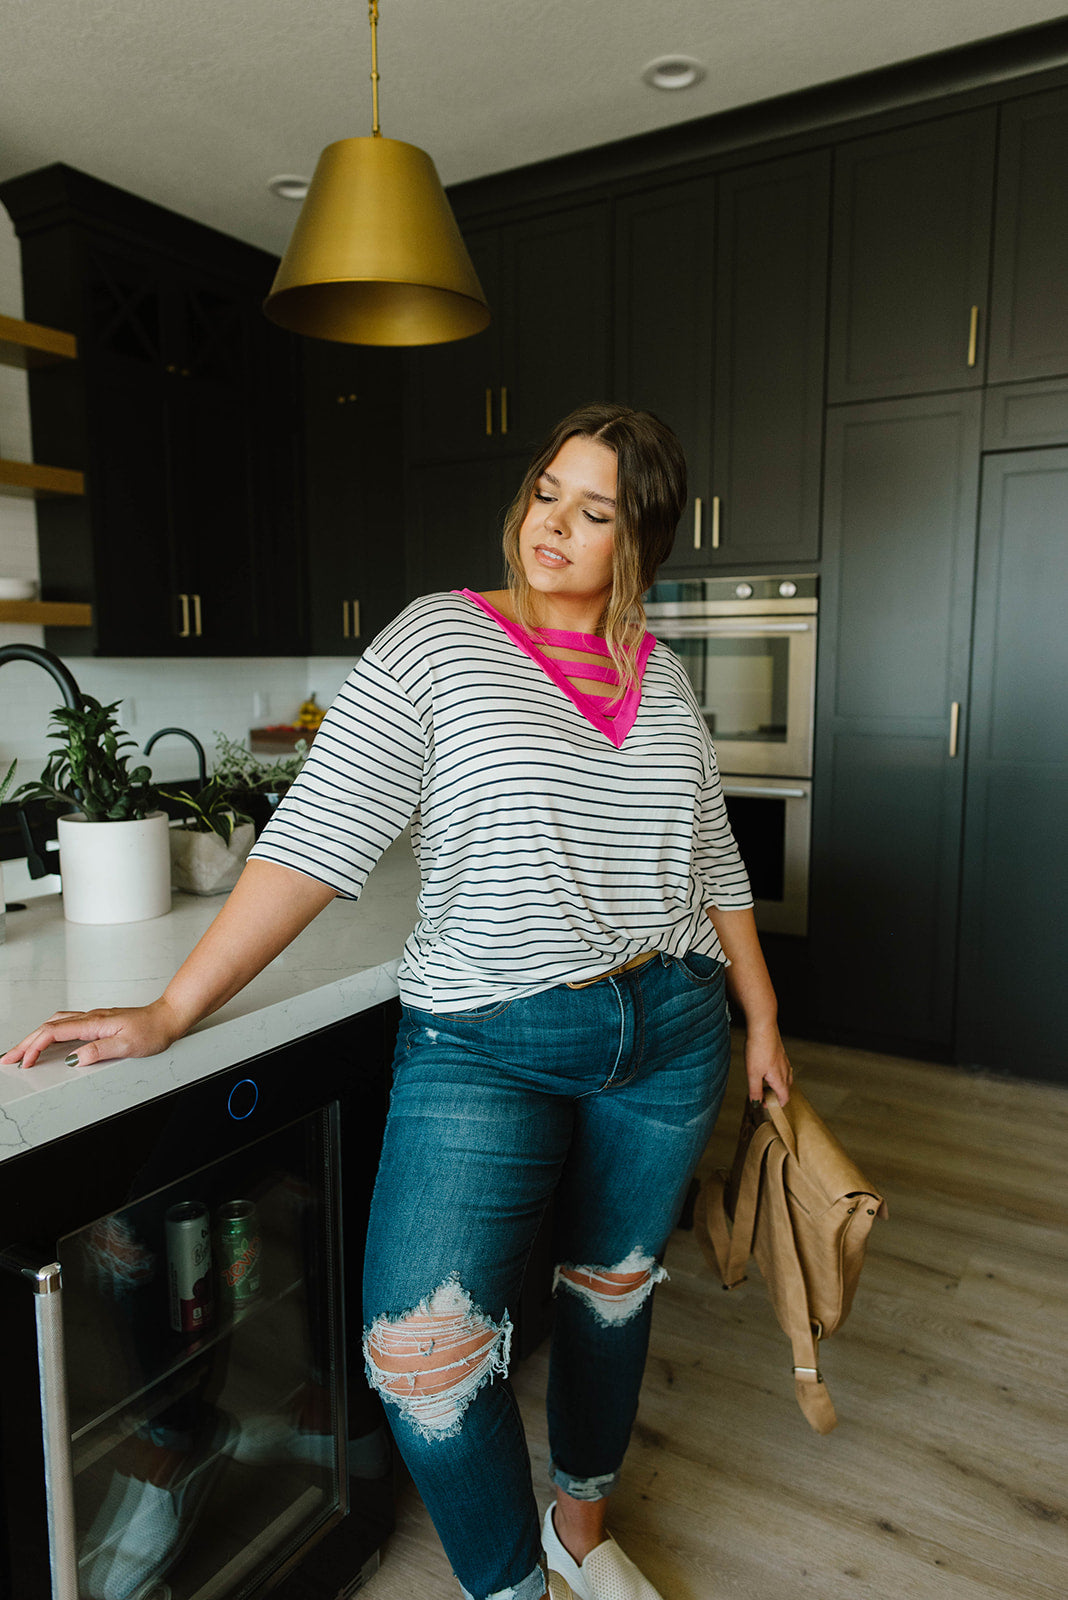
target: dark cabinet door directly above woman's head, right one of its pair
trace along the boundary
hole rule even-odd
[[[505,282],[502,446],[529,454],[587,400],[609,397],[612,285],[608,206],[502,229]]]

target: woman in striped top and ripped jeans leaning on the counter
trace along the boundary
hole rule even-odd
[[[160,1000],[61,1013],[5,1061],[165,1050],[412,826],[419,925],[365,1275],[368,1378],[473,1600],[659,1600],[604,1514],[651,1293],[727,1072],[790,1093],[715,754],[641,594],[686,501],[675,435],[585,406],[505,522],[510,587],[416,600],[363,654],[237,890]],[[544,1528],[507,1384],[555,1195]],[[545,1571],[547,1565],[552,1570]],[[548,1589],[547,1589],[548,1584]]]

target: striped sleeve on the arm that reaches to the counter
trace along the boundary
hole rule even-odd
[[[358,899],[419,806],[425,752],[412,701],[374,650],[365,651],[251,859],[293,867]]]

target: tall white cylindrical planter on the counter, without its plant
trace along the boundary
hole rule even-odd
[[[147,922],[171,909],[165,811],[137,822],[59,818],[62,914],[67,922]]]

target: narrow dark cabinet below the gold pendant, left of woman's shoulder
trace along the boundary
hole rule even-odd
[[[309,650],[355,656],[404,603],[403,355],[307,339]]]

